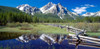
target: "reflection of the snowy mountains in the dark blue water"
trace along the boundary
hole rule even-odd
[[[58,43],[61,44],[62,41],[67,39],[67,35],[55,35],[55,34],[42,34],[42,35],[22,35],[16,40],[24,43],[28,43],[30,40],[41,39],[48,43],[49,45]]]

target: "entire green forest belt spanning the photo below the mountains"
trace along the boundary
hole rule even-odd
[[[66,22],[100,22],[100,17],[84,17],[76,20],[60,19],[54,14],[35,14],[34,16],[23,12],[0,12],[0,25],[7,23],[28,22],[28,23],[66,23]]]

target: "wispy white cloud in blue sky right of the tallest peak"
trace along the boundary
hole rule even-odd
[[[83,12],[86,12],[87,8],[90,7],[95,7],[94,5],[90,5],[90,4],[85,4],[85,5],[81,5],[81,7],[76,7],[75,9],[72,9],[74,12],[76,12],[77,14],[82,14]]]

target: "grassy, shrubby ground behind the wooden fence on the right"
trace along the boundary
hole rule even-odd
[[[55,23],[54,23],[55,24]],[[100,23],[56,23],[87,30],[89,36],[100,36]]]

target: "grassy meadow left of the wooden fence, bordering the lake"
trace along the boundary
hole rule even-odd
[[[44,25],[41,23],[10,23],[7,26],[1,26],[0,32],[13,33],[53,33],[53,34],[68,34],[66,29]]]

